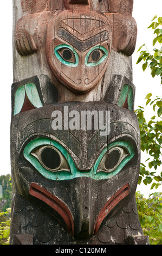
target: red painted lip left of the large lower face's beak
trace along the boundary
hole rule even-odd
[[[48,190],[34,182],[30,184],[29,193],[31,194],[31,196],[42,200],[43,202],[51,206],[51,208],[56,210],[66,223],[68,233],[74,234],[74,223],[72,214],[68,207],[63,202],[61,202],[59,198],[57,198]]]

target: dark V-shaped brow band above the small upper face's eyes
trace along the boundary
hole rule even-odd
[[[108,39],[107,31],[103,31],[102,33],[94,35],[92,36],[92,38],[89,38],[85,41],[77,39],[74,35],[70,34],[63,28],[59,28],[57,30],[57,35],[59,35],[60,38],[62,38],[63,40],[69,42],[70,45],[73,45],[73,47],[75,47],[80,52],[84,52],[88,50],[90,47]]]

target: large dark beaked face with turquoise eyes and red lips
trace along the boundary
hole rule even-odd
[[[77,109],[81,117],[89,105],[67,107]],[[140,164],[138,121],[127,109],[95,102],[91,111],[101,114],[102,109],[104,116],[110,111],[107,136],[101,136],[102,127],[73,130],[73,119],[69,119],[71,130],[56,130],[51,120],[54,109],[63,114],[64,123],[67,114],[62,105],[43,106],[12,118],[13,186],[25,198],[51,206],[53,215],[76,239],[87,239],[134,196]]]

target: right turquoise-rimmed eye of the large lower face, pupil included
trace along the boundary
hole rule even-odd
[[[103,149],[94,165],[95,175],[107,175],[107,178],[118,174],[120,170],[134,156],[133,145],[126,141],[118,141],[109,145],[108,149]],[[102,178],[103,179],[103,178]]]

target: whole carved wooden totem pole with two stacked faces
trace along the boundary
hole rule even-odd
[[[14,0],[11,244],[147,244],[133,0]]]

